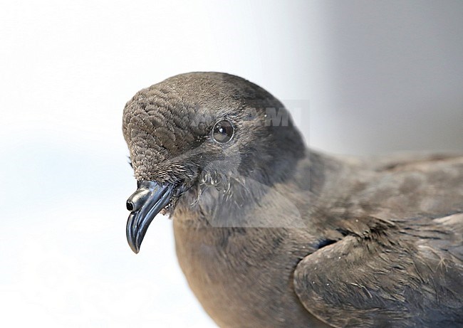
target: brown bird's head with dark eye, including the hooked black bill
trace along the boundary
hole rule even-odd
[[[157,213],[173,213],[198,186],[226,194],[230,179],[271,185],[304,152],[281,102],[225,73],[187,73],[140,90],[125,105],[123,134],[137,179],[127,201],[135,253]]]

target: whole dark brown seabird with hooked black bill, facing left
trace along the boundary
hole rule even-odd
[[[217,72],[137,92],[123,135],[130,248],[170,216],[219,327],[463,327],[463,154],[309,149],[282,102]]]

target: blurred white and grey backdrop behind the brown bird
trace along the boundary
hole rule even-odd
[[[460,0],[4,2],[0,325],[214,327],[171,221],[138,255],[125,240],[125,102],[217,70],[287,103],[316,149],[462,152],[462,17]]]

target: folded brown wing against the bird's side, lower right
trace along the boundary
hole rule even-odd
[[[463,325],[463,213],[407,229],[368,220],[298,263],[306,310],[334,327]]]

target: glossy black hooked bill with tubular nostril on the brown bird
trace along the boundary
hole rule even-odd
[[[174,186],[155,181],[138,181],[138,189],[127,200],[130,216],[127,221],[127,241],[135,253],[140,251],[145,233],[153,218],[165,208],[172,197]]]

